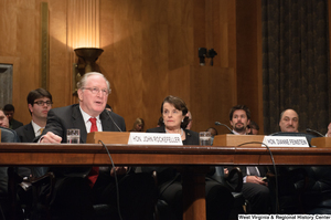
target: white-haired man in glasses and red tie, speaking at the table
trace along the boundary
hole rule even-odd
[[[105,109],[110,85],[103,74],[85,74],[77,88],[79,104],[49,112],[41,143],[66,143],[68,128],[81,129],[81,143],[86,143],[89,132],[126,130],[124,118]],[[151,219],[154,181],[148,174],[130,170],[129,167],[52,168],[56,181],[51,213],[58,219],[95,219],[93,205],[107,203],[116,212],[109,213],[108,219],[119,219],[117,206],[124,219]],[[119,198],[115,175],[119,176]]]

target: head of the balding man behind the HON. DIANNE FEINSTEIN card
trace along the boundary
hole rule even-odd
[[[282,133],[298,133],[299,116],[293,109],[286,109],[280,114],[279,127]]]

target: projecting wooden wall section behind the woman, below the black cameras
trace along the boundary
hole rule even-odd
[[[182,97],[192,114],[192,129],[203,132],[215,127],[220,134],[227,134],[224,127],[216,127],[215,122],[229,125],[228,111],[235,105],[231,91],[225,88],[234,84],[233,69],[188,65],[170,72],[169,83],[172,95]]]

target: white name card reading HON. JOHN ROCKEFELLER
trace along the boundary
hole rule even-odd
[[[180,134],[130,133],[128,145],[183,145]]]

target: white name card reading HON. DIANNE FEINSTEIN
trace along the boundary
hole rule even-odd
[[[299,136],[265,136],[263,143],[268,147],[309,147],[307,138]]]

